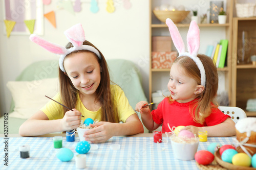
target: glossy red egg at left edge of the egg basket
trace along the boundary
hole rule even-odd
[[[201,150],[195,154],[195,160],[202,165],[208,165],[214,161],[214,154],[209,151]]]

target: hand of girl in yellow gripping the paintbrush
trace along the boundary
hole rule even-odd
[[[81,122],[81,115],[82,114],[76,109],[73,109],[73,111],[67,111],[64,117],[61,119],[63,131],[70,131],[78,128]]]

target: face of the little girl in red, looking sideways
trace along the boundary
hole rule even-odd
[[[193,101],[200,93],[199,86],[201,85],[186,75],[185,70],[178,63],[173,63],[170,68],[170,80],[167,87],[172,99],[179,103]]]

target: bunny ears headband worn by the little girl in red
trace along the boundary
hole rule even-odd
[[[199,28],[196,21],[191,21],[188,32],[187,32],[187,48],[188,52],[185,51],[185,45],[178,31],[178,28],[174,22],[167,18],[166,25],[169,28],[170,36],[173,39],[174,45],[178,50],[179,56],[188,56],[195,61],[201,74],[201,85],[205,87],[205,70],[202,61],[197,57],[199,46],[200,46],[200,35]]]

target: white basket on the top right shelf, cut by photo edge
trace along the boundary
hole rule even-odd
[[[237,16],[238,17],[253,17],[256,16],[256,4],[245,3],[239,4],[236,2]]]

